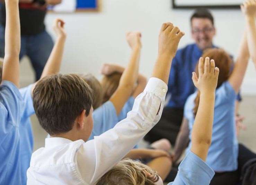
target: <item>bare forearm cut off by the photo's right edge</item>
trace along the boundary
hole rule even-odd
[[[256,25],[254,17],[246,17],[246,27],[247,27],[247,42],[250,57],[253,60],[256,67]]]

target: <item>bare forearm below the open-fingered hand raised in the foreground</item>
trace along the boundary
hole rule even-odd
[[[215,93],[201,93],[192,129],[191,151],[205,160],[211,145]]]

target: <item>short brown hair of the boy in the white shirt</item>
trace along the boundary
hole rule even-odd
[[[70,131],[83,110],[88,116],[92,97],[89,85],[75,74],[46,76],[33,91],[36,116],[50,135]]]

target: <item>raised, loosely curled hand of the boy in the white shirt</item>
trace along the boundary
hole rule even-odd
[[[158,41],[158,54],[174,57],[179,41],[184,35],[184,32],[180,31],[178,27],[173,26],[173,23],[162,24]]]

